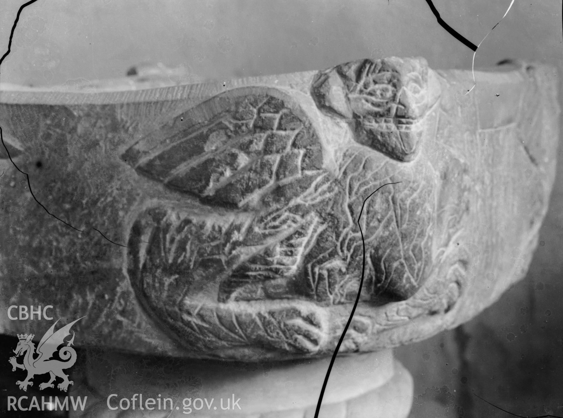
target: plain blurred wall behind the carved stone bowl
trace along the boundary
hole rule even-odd
[[[21,1],[3,0],[0,50]],[[478,44],[510,0],[434,0]],[[536,60],[563,74],[561,5],[516,1],[475,65]],[[473,52],[424,0],[39,0],[23,12],[0,82],[50,86],[123,77],[141,62],[194,79],[323,69],[364,57],[423,56],[470,69]],[[477,83],[479,80],[477,79]],[[560,93],[560,101],[563,96]],[[412,418],[563,416],[563,170],[525,280],[458,329],[397,349],[415,379]]]

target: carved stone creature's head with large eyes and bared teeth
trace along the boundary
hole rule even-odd
[[[429,107],[427,79],[422,59],[359,60],[321,71],[311,95],[325,113],[346,119],[359,143],[411,161]]]

